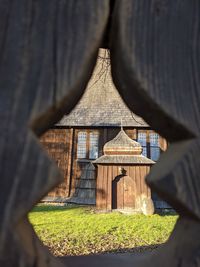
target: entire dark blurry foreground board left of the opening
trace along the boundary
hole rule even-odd
[[[36,135],[83,94],[109,2],[2,0],[0,14],[0,265],[60,266],[24,222],[62,181]]]

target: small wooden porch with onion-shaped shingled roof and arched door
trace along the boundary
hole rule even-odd
[[[96,207],[99,210],[131,210],[153,214],[151,191],[145,183],[154,161],[142,155],[140,143],[121,129],[104,145],[104,155],[96,159]]]

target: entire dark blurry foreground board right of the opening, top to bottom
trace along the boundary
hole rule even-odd
[[[170,142],[147,183],[180,215],[169,241],[139,267],[200,266],[199,29],[198,0],[115,1],[113,80],[129,108]]]

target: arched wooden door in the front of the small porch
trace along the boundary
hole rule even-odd
[[[119,175],[112,183],[112,209],[135,208],[135,182],[130,176]]]

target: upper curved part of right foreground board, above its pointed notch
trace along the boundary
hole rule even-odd
[[[114,83],[131,110],[169,141],[199,134],[199,4],[115,3]]]

